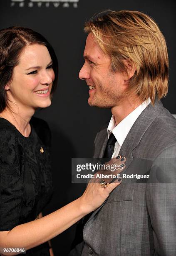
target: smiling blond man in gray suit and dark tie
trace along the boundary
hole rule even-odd
[[[126,156],[124,174],[134,178],[122,176],[87,220],[84,243],[72,255],[174,256],[176,120],[160,102],[168,90],[164,36],[138,11],[101,13],[85,31],[79,78],[89,86],[89,105],[112,111],[95,138],[94,158]]]

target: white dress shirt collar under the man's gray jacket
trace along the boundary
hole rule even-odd
[[[136,119],[142,113],[142,111],[150,104],[151,100],[148,98],[145,100],[139,107],[135,108],[129,115],[126,116],[118,125],[116,125],[114,115],[109,122],[107,133],[108,139],[111,133],[114,134],[117,142],[114,145],[114,153],[112,154],[112,158],[116,158],[119,155],[120,148],[129,133],[131,127],[133,126]]]

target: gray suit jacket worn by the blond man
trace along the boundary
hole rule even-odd
[[[107,126],[95,138],[94,158],[106,145]],[[119,154],[126,156],[124,174],[150,179],[123,179],[93,212],[81,255],[176,255],[176,119],[160,101],[139,115]]]

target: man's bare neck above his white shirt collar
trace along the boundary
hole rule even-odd
[[[121,99],[119,105],[111,109],[114,115],[116,125],[118,125],[127,115],[141,105],[141,100],[138,96],[128,96]]]

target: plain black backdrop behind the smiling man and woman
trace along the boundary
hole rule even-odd
[[[0,0],[0,29],[9,26],[32,28],[52,44],[59,61],[59,82],[50,108],[35,115],[48,122],[52,131],[52,173],[55,193],[44,214],[76,199],[83,184],[71,184],[71,158],[91,157],[96,132],[110,118],[110,110],[90,108],[88,87],[79,80],[86,35],[84,22],[104,9],[139,10],[159,24],[169,50],[169,94],[162,100],[176,113],[174,81],[175,1],[118,0]],[[52,240],[55,256],[66,256],[74,238],[75,225]]]

